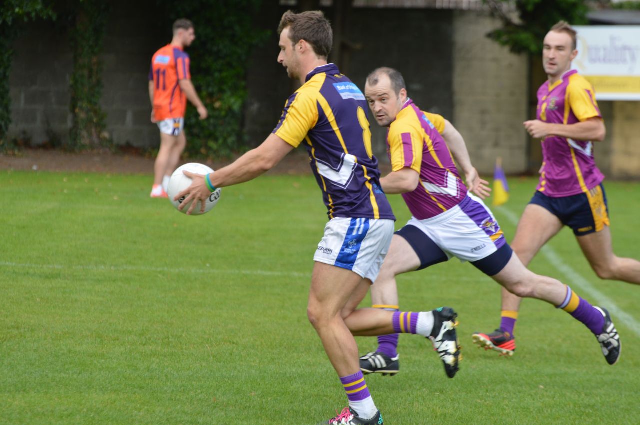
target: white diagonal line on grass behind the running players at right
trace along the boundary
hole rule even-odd
[[[498,206],[494,208],[498,210],[500,213],[502,213],[502,215],[507,217],[507,219],[511,223],[515,225],[518,224],[519,217],[514,212],[512,212],[511,210],[508,210],[508,208],[505,208],[504,206]],[[547,261],[549,261],[552,265],[554,265],[554,267],[557,268],[557,270],[559,270],[564,274],[564,276],[568,279],[568,281],[571,282],[572,286],[573,285],[579,286],[580,290],[588,293],[590,297],[593,297],[596,300],[598,300],[598,303],[600,305],[604,305],[604,307],[607,307],[607,309],[609,310],[609,312],[611,312],[611,314],[613,314],[617,318],[620,318],[620,320],[624,321],[625,325],[628,328],[634,331],[637,336],[640,336],[640,322],[637,321],[636,318],[634,318],[634,316],[632,316],[631,314],[628,314],[626,311],[618,307],[618,305],[616,305],[616,303],[614,303],[611,300],[611,298],[604,295],[604,293],[596,290],[596,288],[593,286],[593,284],[591,284],[591,282],[589,282],[587,279],[582,277],[570,265],[562,261],[562,259],[557,254],[557,252],[550,245],[543,246],[540,251],[545,256]]]

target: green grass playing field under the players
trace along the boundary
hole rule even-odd
[[[510,240],[509,217],[535,182],[509,185],[494,212]],[[201,217],[150,199],[149,187],[146,175],[0,171],[0,423],[313,424],[342,408],[306,316],[326,222],[312,176],[226,188]],[[639,190],[607,182],[621,256],[639,256]],[[399,227],[408,211],[390,199]],[[499,324],[499,287],[452,260],[402,275],[399,291],[405,310],[460,313],[461,370],[447,378],[424,338],[401,337],[401,373],[367,377],[386,424],[640,423],[640,288],[600,281],[568,229],[550,248],[534,271],[599,304],[586,282],[631,318],[612,313],[620,362],[537,300],[522,305],[514,357],[477,349],[472,332]]]

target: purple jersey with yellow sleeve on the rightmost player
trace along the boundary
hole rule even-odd
[[[563,74],[554,84],[538,89],[538,120],[545,123],[575,124],[600,117],[591,84],[577,70]],[[550,197],[588,192],[602,180],[593,158],[590,141],[550,135],[542,141],[543,164],[537,190]]]

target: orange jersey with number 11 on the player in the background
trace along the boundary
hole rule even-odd
[[[180,80],[191,79],[189,55],[173,45],[158,50],[151,59],[149,81],[154,82],[154,116],[156,121],[183,118],[187,97]]]

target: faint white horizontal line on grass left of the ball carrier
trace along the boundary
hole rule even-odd
[[[249,274],[249,275],[264,275],[264,276],[294,276],[294,277],[310,277],[309,273],[300,272],[277,272],[271,270],[234,270],[234,269],[220,269],[220,268],[184,268],[184,267],[148,267],[148,266],[116,266],[116,265],[72,265],[65,266],[61,264],[34,264],[34,263],[13,263],[11,261],[0,261],[0,267],[19,267],[19,268],[35,268],[35,269],[72,269],[72,270],[115,270],[115,271],[140,271],[140,272],[175,272],[175,273],[230,273],[230,274]]]

